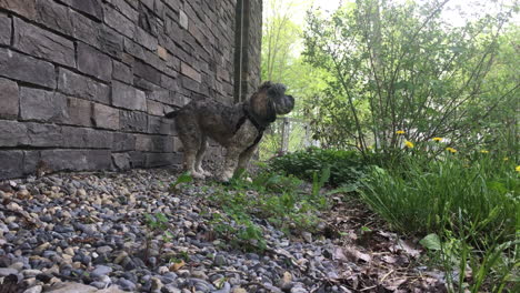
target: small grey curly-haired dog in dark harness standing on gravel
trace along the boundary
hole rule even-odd
[[[193,178],[204,179],[211,173],[202,169],[208,138],[227,149],[226,162],[219,180],[229,181],[234,172],[247,169],[266,128],[294,108],[294,99],[286,95],[286,85],[264,82],[251,98],[234,105],[212,100],[191,101],[167,113],[176,121],[184,149],[184,168]]]

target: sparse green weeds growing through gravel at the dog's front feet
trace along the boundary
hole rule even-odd
[[[327,181],[327,171],[321,174],[311,194],[303,191],[301,180],[279,173],[261,172],[252,182],[234,179],[210,196],[211,202],[224,211],[213,214],[211,224],[237,247],[257,251],[267,245],[263,231],[256,224],[258,219],[267,220],[286,233],[313,231],[318,211],[329,206],[327,198],[317,191]]]

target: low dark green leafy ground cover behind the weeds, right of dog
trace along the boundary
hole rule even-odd
[[[270,168],[312,182],[314,173],[330,166],[331,185],[352,184],[366,170],[362,156],[357,151],[321,150],[309,148],[271,160]]]

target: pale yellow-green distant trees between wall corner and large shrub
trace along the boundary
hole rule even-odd
[[[261,79],[286,84],[297,98],[292,118],[304,119],[302,109],[310,97],[326,87],[327,72],[304,62],[300,55],[302,24],[293,20],[294,13],[304,11],[308,0],[269,0],[263,7]],[[307,124],[307,121],[306,123]],[[306,131],[303,124],[292,128],[289,150],[301,149]],[[269,159],[281,150],[282,123],[273,123],[260,143],[260,158]]]

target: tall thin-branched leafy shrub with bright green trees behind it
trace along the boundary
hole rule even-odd
[[[373,144],[391,156],[399,130],[419,142],[442,135],[472,145],[500,133],[512,141],[519,58],[503,28],[517,8],[451,27],[446,3],[369,0],[331,17],[309,13],[306,60],[333,75],[307,110],[323,145],[367,154]]]

